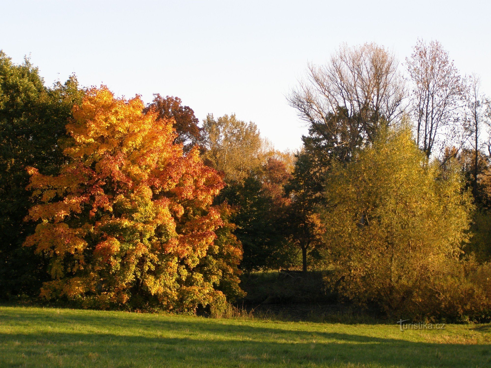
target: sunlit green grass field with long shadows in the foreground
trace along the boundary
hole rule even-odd
[[[1,367],[491,367],[491,325],[406,330],[0,307]]]

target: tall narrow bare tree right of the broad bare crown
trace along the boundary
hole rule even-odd
[[[459,112],[464,106],[465,82],[453,60],[437,41],[418,40],[406,58],[412,81],[412,115],[416,141],[428,157],[439,143],[459,135]]]

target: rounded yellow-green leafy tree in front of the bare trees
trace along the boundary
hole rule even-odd
[[[409,128],[381,131],[326,183],[321,213],[342,295],[409,316],[448,301],[442,278],[460,262],[473,209],[458,164],[429,162]]]

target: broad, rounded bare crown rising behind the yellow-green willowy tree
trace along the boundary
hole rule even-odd
[[[398,60],[374,43],[342,45],[326,65],[309,64],[306,78],[288,96],[311,131],[341,159],[366,140],[377,126],[390,124],[403,112],[406,96]]]

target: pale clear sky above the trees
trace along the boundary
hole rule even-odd
[[[376,42],[402,63],[418,37],[437,40],[491,95],[491,1],[3,0],[0,14],[0,49],[30,55],[48,85],[75,73],[119,97],[176,96],[200,120],[255,122],[279,150],[307,131],[285,96],[341,43]]]

